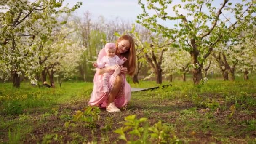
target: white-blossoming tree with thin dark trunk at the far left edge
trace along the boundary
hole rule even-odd
[[[8,69],[13,77],[13,86],[20,86],[20,74],[24,73],[32,82],[36,82],[34,70],[37,63],[34,56],[40,51],[37,47],[44,42],[56,24],[53,15],[69,13],[80,7],[59,9],[63,0],[6,0],[0,2],[0,60],[4,61],[4,69]],[[19,5],[19,6],[17,6]],[[41,41],[40,41],[41,40]],[[39,52],[38,52],[39,53]]]

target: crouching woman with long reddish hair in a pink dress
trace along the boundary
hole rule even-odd
[[[136,52],[131,36],[123,35],[116,41],[115,54],[119,56],[120,59],[123,57],[128,59],[123,66],[121,66],[121,74],[116,77],[109,77],[108,85],[110,90],[109,93],[104,93],[102,75],[105,72],[118,69],[120,66],[115,65],[97,69],[93,79],[93,92],[91,93],[91,99],[88,103],[91,106],[106,107],[108,112],[120,112],[118,108],[124,107],[131,99],[131,86],[125,79],[125,74],[133,75],[136,67]],[[99,62],[103,56],[106,56],[106,52],[102,49],[97,62]]]

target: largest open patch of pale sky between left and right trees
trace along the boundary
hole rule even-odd
[[[65,0],[64,5],[69,6],[82,2],[83,5],[75,11],[78,16],[83,16],[89,11],[93,16],[104,16],[106,19],[119,17],[125,21],[135,21],[137,15],[142,13],[138,0]]]

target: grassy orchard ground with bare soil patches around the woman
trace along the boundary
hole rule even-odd
[[[170,84],[164,82],[163,85]],[[128,115],[146,117],[142,137],[125,133],[128,141],[146,141],[161,121],[169,142],[255,143],[256,80],[208,80],[203,85],[174,81],[172,86],[133,92],[126,110],[109,114],[104,109],[93,127],[73,121],[77,109],[87,106],[93,83],[66,82],[59,88],[36,88],[21,83],[0,84],[0,141],[4,143],[121,143],[113,131],[124,127]],[[131,87],[158,86],[155,81]],[[83,109],[80,109],[83,111]],[[69,127],[64,124],[70,122]],[[104,133],[104,134],[102,134]]]

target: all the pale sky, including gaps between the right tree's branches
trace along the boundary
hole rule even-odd
[[[237,3],[238,1],[240,0],[232,0],[232,3]],[[138,0],[65,0],[64,5],[69,4],[69,7],[72,7],[77,2],[83,3],[83,5],[81,5],[81,7],[75,11],[75,13],[78,16],[81,16],[81,18],[86,11],[89,11],[92,14],[92,17],[95,19],[97,19],[99,16],[104,16],[104,18],[106,18],[107,20],[114,20],[116,17],[119,17],[120,19],[123,19],[125,21],[135,23],[135,21],[137,20],[137,15],[142,13],[142,9],[138,4]],[[145,0],[142,0],[142,2],[145,3]],[[172,5],[176,5],[179,3],[184,5],[181,0],[173,0]],[[223,0],[214,0],[212,6],[215,6],[218,10],[221,3],[223,3]],[[168,7],[166,12],[168,12],[168,15],[170,16],[175,16],[171,7],[172,6]],[[187,15],[187,11],[184,11],[183,9],[180,9],[179,12],[180,14]],[[229,17],[231,19],[230,21],[232,21],[233,18],[228,12],[222,12],[226,17]],[[149,11],[149,14],[150,13],[155,14],[155,11]],[[220,16],[220,18],[225,19],[223,16]],[[190,20],[190,18],[187,19]],[[163,24],[167,27],[170,26],[170,22],[172,23],[171,25],[173,25],[173,23],[178,24],[179,20],[158,20],[158,23]]]

